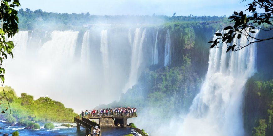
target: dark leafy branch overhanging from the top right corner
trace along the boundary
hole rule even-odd
[[[273,29],[273,0],[252,0],[252,3],[246,6],[248,6],[246,10],[252,12],[253,15],[247,16],[243,11],[239,13],[234,11],[234,14],[229,19],[232,19],[230,22],[235,24],[224,28],[224,30],[227,30],[227,33],[215,33],[216,39],[209,42],[212,43],[211,48],[226,48],[227,52],[230,50],[238,51],[252,43],[273,39],[273,37],[259,39],[250,35],[251,33],[256,33],[255,29],[262,31],[271,31]],[[258,14],[256,12],[257,8],[260,8],[263,13]],[[248,44],[241,45],[234,42],[234,38],[240,39],[242,36],[247,38]],[[234,43],[233,45],[231,45],[232,42]],[[226,46],[219,47],[219,43],[225,43]]]

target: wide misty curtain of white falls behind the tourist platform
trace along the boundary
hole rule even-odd
[[[49,96],[75,112],[94,108],[119,100],[145,68],[164,62],[155,37],[158,28],[19,31],[5,83],[19,96]]]

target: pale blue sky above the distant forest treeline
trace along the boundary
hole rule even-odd
[[[20,8],[57,13],[94,15],[223,16],[244,11],[250,0],[19,0]]]

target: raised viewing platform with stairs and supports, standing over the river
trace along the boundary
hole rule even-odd
[[[127,119],[137,117],[136,112],[134,113],[110,113],[110,115],[106,115],[104,113],[97,115],[97,113],[90,113],[82,117],[82,115],[78,115],[74,117],[74,123],[77,124],[77,131],[80,131],[80,126],[85,128],[85,133],[88,135],[92,133],[92,130],[95,126],[101,130],[102,126],[115,126],[120,124],[122,127],[127,126]],[[94,123],[90,119],[99,119],[99,123]],[[100,133],[101,135],[101,133]]]

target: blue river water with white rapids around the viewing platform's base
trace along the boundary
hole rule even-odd
[[[39,130],[28,130],[24,129],[24,126],[10,126],[10,123],[6,123],[5,121],[0,120],[0,133],[1,135],[4,133],[8,133],[11,135],[14,131],[18,131],[20,136],[55,136],[55,135],[68,135],[68,136],[85,136],[85,128],[81,127],[81,131],[77,133],[77,128],[67,128],[65,126],[61,126],[64,123],[53,123],[55,128],[53,130],[44,129],[45,123],[39,123]],[[76,126],[75,123],[70,123],[71,125]],[[101,129],[103,136],[123,136],[127,134],[133,134],[135,136],[139,136],[136,131],[132,128],[102,128]]]

